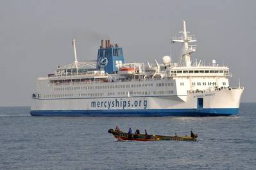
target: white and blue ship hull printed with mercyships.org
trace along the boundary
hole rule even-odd
[[[223,116],[239,113],[242,88],[184,96],[33,99],[35,116]]]

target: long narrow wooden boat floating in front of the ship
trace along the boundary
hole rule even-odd
[[[198,134],[185,136],[163,136],[163,135],[145,135],[145,134],[128,134],[125,132],[115,131],[113,129],[108,130],[108,133],[114,135],[117,140],[136,140],[136,141],[158,141],[158,140],[189,140],[196,141]]]

